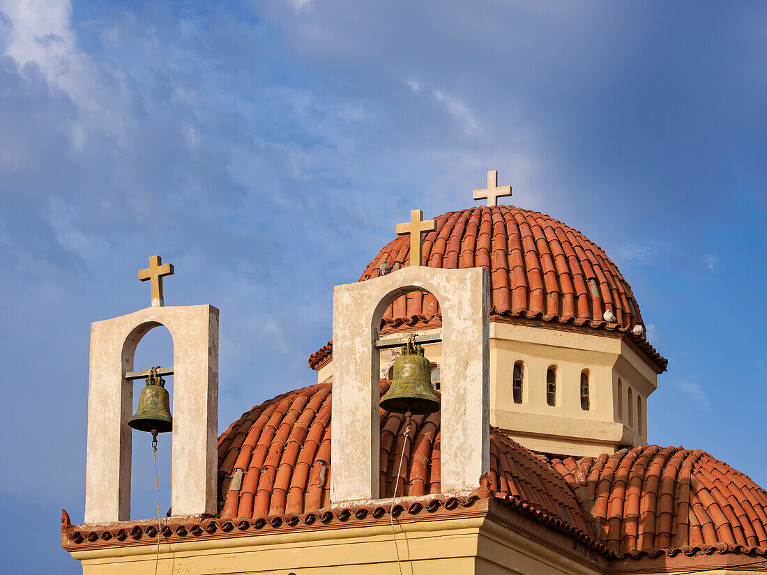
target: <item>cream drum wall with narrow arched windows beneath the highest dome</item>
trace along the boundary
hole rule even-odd
[[[418,330],[420,334],[427,330]],[[647,398],[657,389],[657,374],[620,337],[540,325],[490,321],[490,423],[528,449],[547,453],[598,456],[625,445],[647,442]],[[443,367],[441,343],[426,343],[424,355]],[[381,353],[382,377],[388,362]],[[525,366],[522,403],[514,403],[514,363]],[[557,367],[557,405],[546,403],[549,366]],[[333,379],[333,362],[318,373]],[[581,409],[581,372],[588,370],[590,409]],[[618,394],[617,380],[622,390]],[[633,426],[628,425],[627,389],[633,389]],[[446,389],[443,381],[441,388]],[[642,398],[641,418],[637,393]],[[618,416],[622,403],[624,417]]]

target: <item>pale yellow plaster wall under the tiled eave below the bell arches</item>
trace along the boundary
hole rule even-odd
[[[397,524],[404,575],[596,575],[571,557],[485,517]],[[84,575],[153,575],[157,547],[114,547],[72,552]],[[158,575],[396,575],[390,527],[341,527],[285,534],[161,544]]]

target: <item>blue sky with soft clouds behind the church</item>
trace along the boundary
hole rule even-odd
[[[670,360],[650,442],[767,485],[765,61],[763,2],[0,0],[7,568],[79,572],[58,519],[83,517],[89,324],[149,304],[150,255],[166,304],[221,310],[224,429],[314,381],[334,284],[487,169],[634,288]]]

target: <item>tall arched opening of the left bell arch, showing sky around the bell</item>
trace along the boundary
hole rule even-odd
[[[173,365],[173,338],[165,326],[151,328],[143,335],[133,356],[133,370],[149,370],[153,366],[170,367]],[[163,376],[165,389],[170,393],[170,405],[173,406],[173,376]],[[133,413],[136,412],[141,390],[146,380],[133,381]],[[157,498],[154,485],[154,463],[152,435],[132,430],[133,449],[131,454],[130,478],[130,517],[149,519],[157,516]],[[160,513],[163,517],[170,508],[170,461],[173,446],[173,433],[157,436],[157,486],[160,491]]]

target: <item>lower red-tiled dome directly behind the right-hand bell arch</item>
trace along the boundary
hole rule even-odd
[[[386,393],[389,382],[382,381]],[[380,496],[393,496],[403,452],[403,416],[380,412]],[[331,384],[255,406],[219,438],[223,519],[297,515],[328,508]],[[439,494],[439,412],[413,416],[398,496]],[[588,533],[574,494],[545,460],[495,428],[490,431],[492,489],[541,519]],[[479,485],[479,478],[477,478]]]

